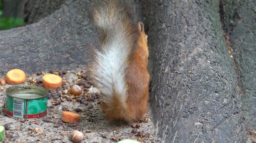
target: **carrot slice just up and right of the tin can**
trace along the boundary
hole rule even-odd
[[[62,78],[55,74],[46,74],[43,76],[43,86],[47,90],[56,90],[62,86]]]

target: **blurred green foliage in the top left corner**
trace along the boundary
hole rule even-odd
[[[23,18],[14,18],[14,17],[3,18],[1,17],[2,14],[3,14],[2,0],[0,0],[0,30],[8,30],[11,28],[24,25]]]

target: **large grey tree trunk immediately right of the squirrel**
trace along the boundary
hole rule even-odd
[[[218,0],[142,0],[159,143],[245,143]]]

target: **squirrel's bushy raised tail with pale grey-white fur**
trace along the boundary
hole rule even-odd
[[[128,115],[126,71],[138,37],[133,10],[124,1],[107,0],[92,9],[101,43],[93,51],[91,76],[111,120],[126,120]]]

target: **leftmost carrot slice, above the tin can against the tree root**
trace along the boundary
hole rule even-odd
[[[5,77],[7,84],[17,85],[26,81],[26,74],[21,69],[10,70],[7,72]]]

